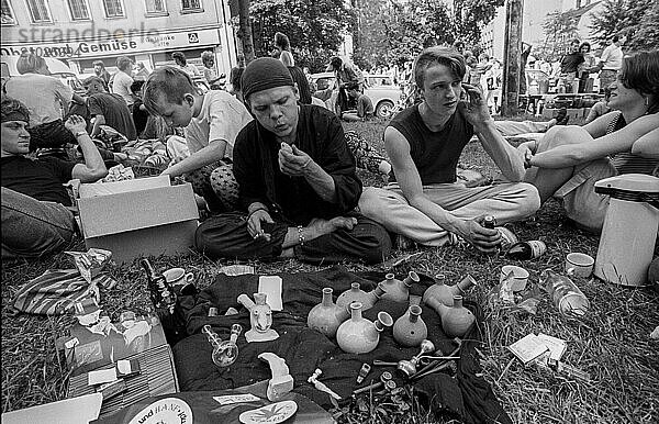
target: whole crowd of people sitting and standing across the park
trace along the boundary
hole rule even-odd
[[[342,125],[342,118],[372,113],[360,72],[338,57],[331,60],[336,113],[322,101],[314,104],[319,99],[308,72],[294,65],[286,35],[278,33],[275,42],[277,58],[234,69],[230,90],[196,85],[202,75],[211,87],[219,82],[212,57],[202,56],[201,72],[185,56],[172,55],[175,66],[156,68],[145,81],[133,78],[127,58],[118,59],[112,80],[99,66],[85,81],[85,99],[47,76],[43,58],[22,55],[23,75],[7,82],[0,108],[2,257],[38,257],[74,237],[74,202],[63,183],[97,181],[107,164],[126,159],[94,145],[105,126],[129,141],[154,122],[183,130],[169,130],[164,138],[170,163],[163,175],[190,182],[203,199],[210,216],[197,230],[196,247],[210,257],[379,263],[409,242],[466,242],[489,253],[501,234],[483,225],[485,215],[499,225],[525,220],[557,197],[568,217],[596,232],[608,198],[593,191],[595,181],[658,174],[657,51],[622,58],[619,70],[601,60],[602,71],[615,70],[605,104],[611,111],[580,127],[557,120],[494,121],[492,59],[480,55],[473,62],[460,46],[426,48],[409,67],[420,101],[388,123],[384,158]],[[351,98],[356,112],[344,113]],[[68,112],[71,101],[87,114],[63,115],[60,107]],[[529,129],[546,134],[518,148],[504,138],[506,132]],[[501,178],[468,188],[458,180],[457,166],[473,136]],[[78,147],[75,158],[63,149],[70,145]],[[357,166],[386,176],[388,183],[364,187]]]

